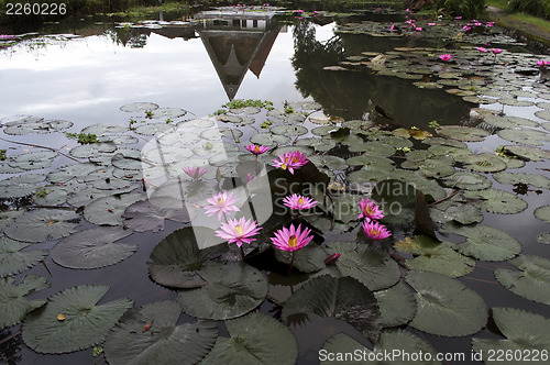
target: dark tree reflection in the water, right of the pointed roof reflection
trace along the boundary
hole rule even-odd
[[[373,75],[365,66],[356,71],[323,70],[338,65],[345,56],[364,51],[385,52],[402,46],[403,42],[380,37],[343,34],[328,42],[316,40],[315,25],[299,22],[293,31],[296,69],[296,88],[302,97],[312,97],[330,114],[345,119],[370,119],[378,117],[375,106],[381,106],[404,126],[426,126],[429,121],[440,124],[457,124],[468,115],[472,104],[441,90],[418,89],[410,80]],[[366,38],[365,38],[366,37]],[[350,49],[352,49],[350,52]],[[376,120],[386,123],[387,120]]]

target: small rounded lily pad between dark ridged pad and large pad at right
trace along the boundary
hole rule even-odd
[[[415,295],[403,281],[388,289],[375,291],[374,296],[378,301],[384,328],[407,324],[415,317]]]

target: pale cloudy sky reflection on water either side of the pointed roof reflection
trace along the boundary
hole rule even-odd
[[[135,101],[178,107],[197,117],[228,101],[199,38],[170,40],[152,33],[144,48],[89,36],[45,48],[0,53],[0,118],[33,114],[66,119],[78,129],[99,122],[124,123],[122,104]],[[248,73],[235,98],[298,100],[294,88],[292,32],[279,33],[256,79]]]

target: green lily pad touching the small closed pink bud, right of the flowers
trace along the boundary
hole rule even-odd
[[[352,242],[331,242],[324,250],[327,255],[340,254],[336,267],[342,275],[358,279],[370,290],[389,288],[399,280],[399,266],[382,251]]]

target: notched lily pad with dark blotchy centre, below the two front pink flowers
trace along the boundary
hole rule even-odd
[[[207,284],[198,289],[180,290],[177,300],[193,317],[224,320],[240,317],[264,301],[267,278],[242,263],[210,262],[199,270]]]

